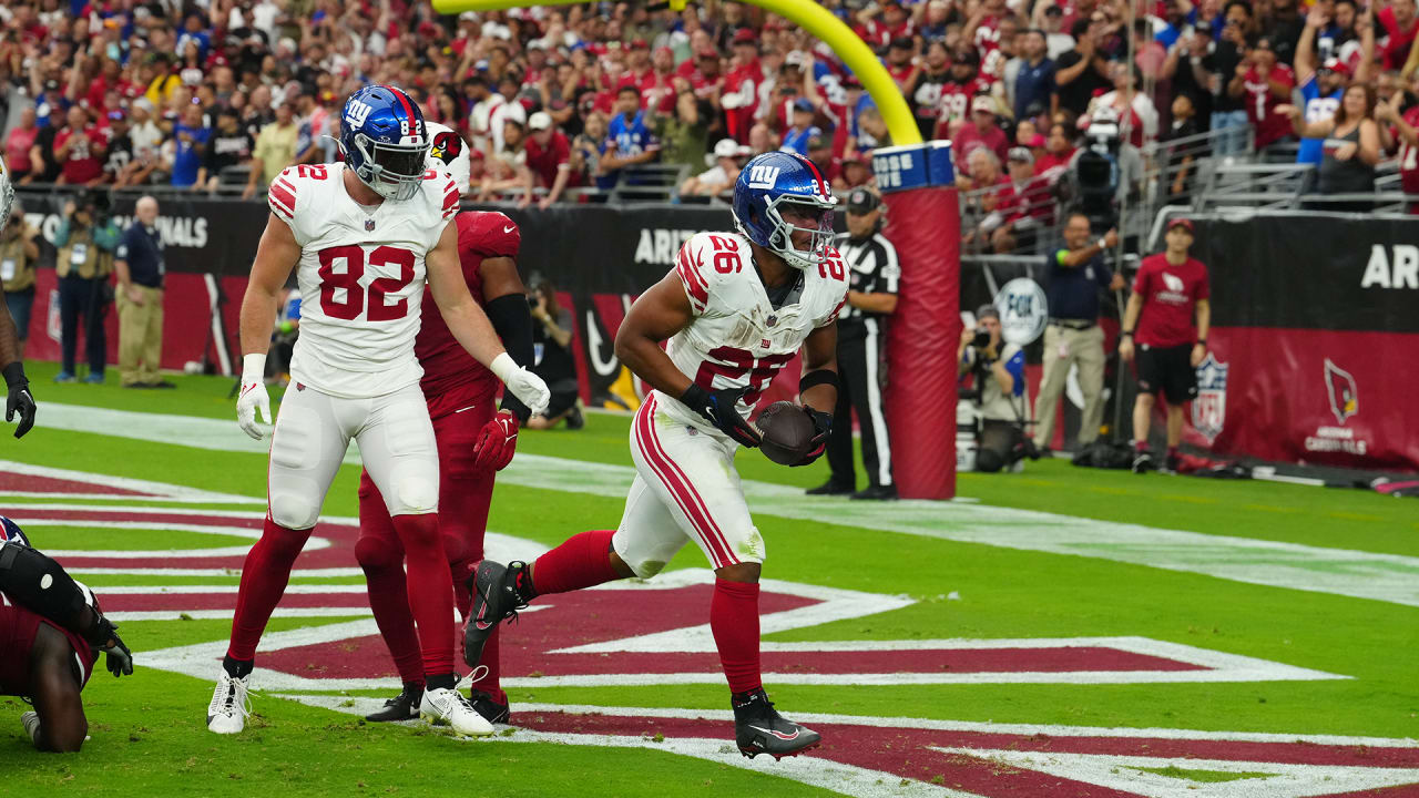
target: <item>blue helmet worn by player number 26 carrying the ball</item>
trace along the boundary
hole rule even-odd
[[[744,165],[734,183],[735,227],[795,268],[810,268],[827,258],[836,204],[823,173],[796,152],[758,155]],[[800,223],[786,220],[785,210]],[[810,234],[807,250],[793,246],[797,231]]]

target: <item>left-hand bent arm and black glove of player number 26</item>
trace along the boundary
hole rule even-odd
[[[681,277],[671,270],[660,283],[640,295],[616,332],[616,356],[636,376],[666,396],[695,410],[744,446],[758,446],[759,433],[739,416],[739,399],[748,388],[712,390],[695,385],[660,345],[694,321],[694,310]]]

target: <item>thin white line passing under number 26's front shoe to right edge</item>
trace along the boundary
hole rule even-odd
[[[734,720],[729,710],[692,710],[673,707],[614,707],[603,704],[546,704],[518,703],[518,711],[603,714],[613,717],[663,717]],[[988,723],[969,720],[935,720],[925,717],[876,717],[861,714],[802,713],[793,718],[813,726],[871,726],[891,728],[920,728],[924,731],[966,731],[981,734],[1012,734],[1019,737],[1120,737],[1127,740],[1198,740],[1225,743],[1310,743],[1314,745],[1366,745],[1371,748],[1419,748],[1419,740],[1393,737],[1349,737],[1341,734],[1280,734],[1271,731],[1205,731],[1196,728],[1131,728],[1105,726],[1054,726],[1036,723]]]

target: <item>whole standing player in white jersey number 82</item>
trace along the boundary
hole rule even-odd
[[[414,356],[426,277],[450,331],[474,359],[534,410],[549,395],[508,356],[468,294],[453,223],[458,189],[447,172],[426,168],[429,133],[419,106],[397,88],[365,87],[346,101],[342,122],[345,163],[294,166],[271,183],[271,217],[241,302],[237,420],[260,439],[255,413],[268,422],[271,415],[265,352],[281,288],[297,270],[301,338],[271,437],[267,521],[241,569],[207,727],[233,734],[245,726],[257,642],[353,437],[407,557],[429,686],[420,714],[461,734],[491,734],[454,689],[438,454]]]

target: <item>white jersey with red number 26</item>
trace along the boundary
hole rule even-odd
[[[803,339],[836,321],[847,300],[847,267],[830,250],[823,264],[802,271],[802,283],[773,308],[749,240],[736,233],[697,233],[680,247],[675,274],[694,321],[670,339],[670,359],[705,390],[746,386],[738,408],[745,417]],[[657,408],[677,422],[724,436],[675,399],[661,398]]]

